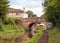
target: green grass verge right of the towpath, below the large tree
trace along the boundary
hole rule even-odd
[[[48,43],[60,43],[60,30],[56,27],[48,30],[49,40]]]

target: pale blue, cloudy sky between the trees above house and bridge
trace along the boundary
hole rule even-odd
[[[25,11],[31,10],[34,14],[40,17],[43,14],[42,3],[44,0],[9,0],[10,7],[16,9],[25,8]]]

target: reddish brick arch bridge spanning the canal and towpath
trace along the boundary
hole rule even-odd
[[[24,18],[21,24],[26,28],[30,28],[34,24],[41,24],[41,25],[44,25],[46,27],[46,29],[51,28],[53,25],[52,23],[47,22],[45,19],[43,19],[41,17]]]

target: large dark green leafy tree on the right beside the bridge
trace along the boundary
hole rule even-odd
[[[60,0],[45,0],[43,6],[44,18],[55,26],[60,26]]]

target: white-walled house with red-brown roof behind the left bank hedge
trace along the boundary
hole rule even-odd
[[[28,14],[25,13],[24,10],[14,9],[14,8],[9,8],[7,16],[8,17],[28,18]]]

